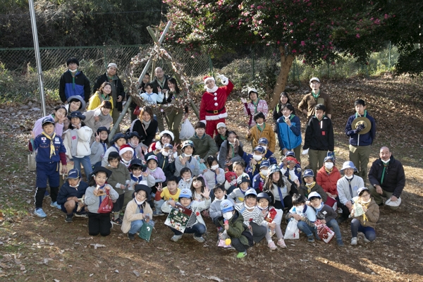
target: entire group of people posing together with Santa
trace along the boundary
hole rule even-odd
[[[321,239],[316,222],[326,224],[333,228],[340,247],[344,244],[339,225],[352,218],[351,244],[357,245],[359,232],[364,241],[372,242],[383,197],[392,209],[400,204],[405,174],[388,147],[380,149],[380,159],[367,173],[376,123],[362,99],[355,101],[355,114],[345,125],[350,161],[336,167],[331,100],[321,92],[318,78],[310,80],[312,92],[298,105],[308,119],[305,140],[300,116],[286,92],[274,108],[271,126],[266,122],[266,101],[259,99],[257,90],[248,90],[250,101],[242,102],[252,151],[245,152],[237,133],[225,123],[233,84],[224,75],[219,77],[221,87],[214,78],[204,78],[200,121],[195,123],[195,134],[181,142],[179,125],[187,118],[188,106],[177,102],[182,93],[176,80],[156,68],[156,79],[149,82],[147,75],[140,85],[145,104],[130,105],[134,115],[129,130],[118,131],[109,142],[109,128],[112,123],[116,126],[116,113],[122,111],[119,104],[125,98],[116,64],[109,64],[90,96],[78,61],[67,63],[69,69],[61,79],[61,99],[66,104],[40,118],[30,140],[30,149],[37,152],[35,214],[39,217],[47,216],[42,204],[48,180],[51,207],[61,209],[69,223],[73,216],[87,217],[90,235],[109,235],[116,224],[135,240],[145,223],[154,224],[153,216],[189,209],[192,213],[183,233],[193,233],[195,240],[204,242],[204,219],[210,219],[218,238],[225,234],[237,257],[245,257],[247,248],[263,239],[271,250],[286,247],[283,218],[295,221],[309,242]],[[280,162],[274,156],[277,144]],[[300,154],[309,158],[304,171]],[[67,174],[63,184],[59,173]],[[114,204],[104,212],[106,199]],[[169,228],[171,240],[180,240],[183,233]]]

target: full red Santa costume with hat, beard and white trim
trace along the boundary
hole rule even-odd
[[[200,105],[200,121],[206,124],[206,133],[213,137],[217,133],[217,124],[224,123],[228,116],[226,113],[226,100],[233,90],[233,84],[224,75],[219,75],[224,86],[217,87],[214,78],[204,77],[204,92]],[[207,81],[213,80],[214,87],[207,87]]]

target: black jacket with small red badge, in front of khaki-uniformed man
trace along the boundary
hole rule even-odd
[[[305,141],[302,148],[333,152],[334,147],[331,119],[324,116],[319,121],[316,116],[312,116],[305,129]]]

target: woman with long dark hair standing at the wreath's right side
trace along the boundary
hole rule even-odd
[[[179,125],[182,118],[188,118],[188,106],[183,104],[183,96],[185,93],[179,90],[176,79],[169,78],[167,82],[169,90],[166,91],[163,99],[167,104],[162,104],[161,108],[164,109],[168,128],[175,136],[175,142],[179,144]]]

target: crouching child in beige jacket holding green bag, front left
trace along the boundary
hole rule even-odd
[[[149,222],[151,220],[153,212],[152,208],[147,204],[151,200],[151,193],[152,190],[148,186],[135,185],[133,200],[126,206],[121,227],[123,233],[128,233],[129,240],[135,240],[135,234],[140,231],[144,221]]]

